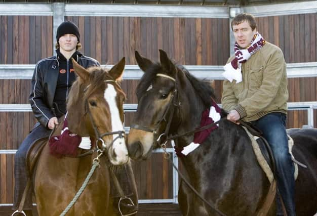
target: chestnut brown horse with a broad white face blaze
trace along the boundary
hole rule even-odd
[[[93,160],[99,155],[99,167],[66,215],[117,215],[109,198],[108,168],[130,162],[123,127],[126,96],[118,84],[123,75],[125,58],[110,70],[99,67],[86,70],[74,60],[73,66],[77,79],[67,100],[68,128],[81,137],[91,137],[94,148],[99,150],[83,157],[57,158],[50,154],[49,145],[45,145],[33,181],[37,211],[39,215],[60,215],[81,188]],[[62,125],[63,122],[53,136],[61,134]],[[77,151],[82,154],[89,150],[78,148]],[[131,181],[136,194],[134,176]]]

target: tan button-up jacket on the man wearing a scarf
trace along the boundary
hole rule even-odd
[[[270,112],[286,114],[287,100],[284,55],[269,42],[242,64],[242,82],[223,82],[222,108],[235,109],[244,121],[257,120]]]

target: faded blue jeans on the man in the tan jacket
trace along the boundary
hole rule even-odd
[[[251,123],[262,131],[263,137],[272,149],[276,163],[278,190],[282,196],[288,216],[294,216],[296,215],[294,165],[291,154],[288,151],[288,137],[285,127],[286,115],[280,112],[273,112]],[[276,214],[283,215],[279,196],[276,196]]]

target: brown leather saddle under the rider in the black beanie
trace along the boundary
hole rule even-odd
[[[28,149],[26,153],[26,169],[28,170],[29,177],[32,177],[34,167],[36,165],[36,162],[38,160],[39,155],[41,155],[41,152],[45,146],[45,144],[48,142],[49,137],[39,138],[35,140],[30,148]]]

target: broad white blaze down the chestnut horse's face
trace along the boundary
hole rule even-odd
[[[120,112],[115,101],[116,91],[112,84],[108,83],[108,88],[105,90],[104,98],[106,99],[110,109],[112,132],[124,131]],[[116,139],[117,137],[117,134],[113,135],[113,139]],[[110,152],[111,151],[114,151],[116,155],[116,158],[112,158],[114,161],[111,160],[111,157],[109,158],[113,164],[122,164],[128,161],[128,149],[125,143],[125,138],[117,138],[112,145],[112,150],[110,149]]]

